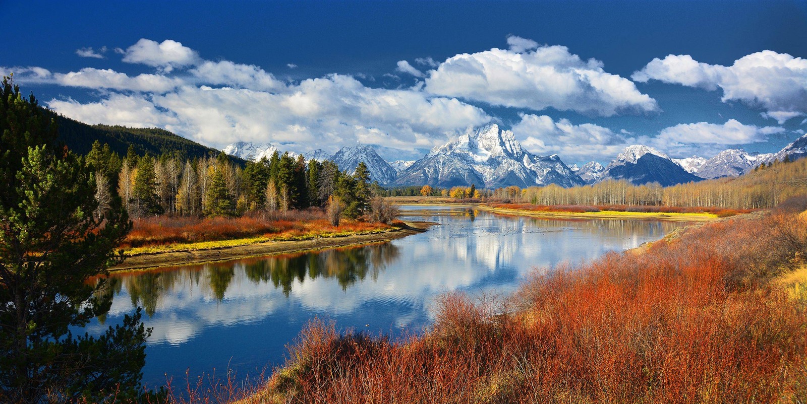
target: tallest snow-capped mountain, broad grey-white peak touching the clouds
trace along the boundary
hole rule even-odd
[[[512,131],[495,123],[433,148],[400,173],[395,185],[497,188],[517,185],[583,185],[583,180],[556,155],[535,156],[521,147]]]

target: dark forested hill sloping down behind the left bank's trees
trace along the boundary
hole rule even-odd
[[[139,156],[146,152],[152,156],[173,154],[182,160],[211,156],[211,153],[212,156],[218,156],[220,152],[157,127],[88,125],[63,115],[56,115],[56,121],[59,124],[59,140],[65,142],[70,150],[80,154],[90,152],[95,140],[101,144],[109,144],[111,151],[119,156],[126,156],[130,144]],[[239,165],[245,164],[244,160],[236,157],[231,157],[231,160]]]

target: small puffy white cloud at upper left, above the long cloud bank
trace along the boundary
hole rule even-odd
[[[196,51],[175,40],[158,43],[142,38],[123,51],[123,61],[157,67],[169,73],[174,68],[195,65],[200,59]]]

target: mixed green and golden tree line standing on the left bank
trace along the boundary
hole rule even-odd
[[[121,158],[106,144],[95,142],[87,164],[98,177],[99,212],[114,190],[133,218],[232,217],[316,207],[327,208],[332,222],[338,223],[340,217],[356,219],[369,213],[374,196],[383,194],[378,183],[370,181],[364,163],[351,174],[332,161],[306,161],[288,152],[249,161],[242,169],[224,153],[182,160],[169,154],[138,156],[129,148]]]

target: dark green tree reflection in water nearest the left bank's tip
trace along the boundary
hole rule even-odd
[[[368,274],[375,281],[378,273],[398,256],[398,248],[391,243],[373,244],[299,256],[267,257],[246,264],[245,273],[255,283],[271,281],[288,296],[291,285],[295,281],[302,283],[306,277],[336,278],[342,289],[364,280]]]

